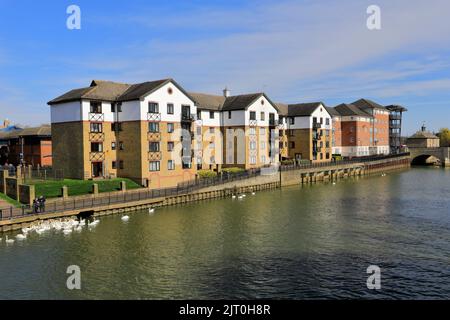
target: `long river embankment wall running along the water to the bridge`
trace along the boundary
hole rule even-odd
[[[76,217],[80,215],[104,216],[111,214],[121,214],[124,212],[138,211],[154,207],[171,206],[208,199],[231,197],[232,195],[242,193],[277,189],[285,186],[292,186],[303,183],[337,181],[339,179],[346,179],[349,177],[373,175],[409,167],[409,156],[399,156],[370,162],[353,162],[348,164],[300,169],[286,168],[277,172],[268,171],[265,174],[261,174],[249,179],[206,187],[189,193],[156,198],[141,197],[141,194],[138,193],[138,191],[132,190],[127,191],[130,195],[132,195],[131,197],[129,197],[130,201],[111,203],[111,198],[109,198],[109,202],[105,203],[100,201],[99,203],[96,203],[98,205],[94,206],[94,200],[92,198],[93,205],[89,208],[77,208],[76,203],[78,200],[74,198],[69,201],[69,204],[72,204],[73,201],[73,208],[67,207],[64,204],[63,210],[61,210],[60,212],[21,215],[18,217],[11,216],[10,219],[0,221],[0,232],[20,230],[39,220],[56,219],[61,217]],[[127,198],[126,195],[126,193],[122,193],[123,199]],[[139,197],[133,197],[133,195],[139,195]],[[81,200],[86,201],[85,198],[82,198]],[[88,203],[90,203],[90,201],[91,200],[88,199]]]

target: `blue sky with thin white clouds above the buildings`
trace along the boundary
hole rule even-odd
[[[81,29],[66,26],[67,7]],[[381,29],[366,25],[369,5]],[[50,121],[92,79],[174,78],[188,91],[283,103],[400,104],[404,132],[450,127],[450,1],[0,0],[0,120]]]

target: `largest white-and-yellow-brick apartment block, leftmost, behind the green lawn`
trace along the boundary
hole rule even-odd
[[[121,176],[156,188],[195,178],[197,110],[174,80],[94,80],[48,104],[54,167],[65,177]]]

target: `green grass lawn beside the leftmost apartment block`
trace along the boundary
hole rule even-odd
[[[61,188],[67,186],[69,196],[89,194],[92,192],[92,185],[98,184],[99,192],[111,192],[120,190],[120,181],[125,181],[127,190],[141,188],[140,185],[127,178],[116,178],[107,180],[74,180],[64,179],[61,181],[27,181],[27,184],[35,186],[36,197],[56,198],[61,196]]]

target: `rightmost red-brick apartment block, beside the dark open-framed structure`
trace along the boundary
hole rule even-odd
[[[369,154],[389,154],[389,114],[390,111],[386,107],[368,100],[359,99],[351,103],[362,111],[373,117],[370,131],[370,147]]]

